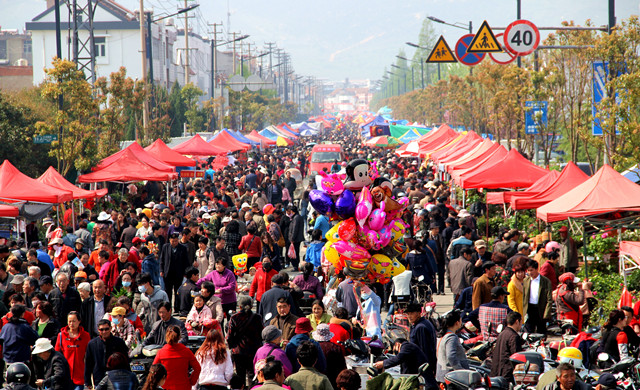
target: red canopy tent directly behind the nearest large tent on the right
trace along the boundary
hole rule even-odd
[[[569,162],[562,170],[560,176],[547,188],[533,196],[515,197],[511,200],[511,208],[514,210],[536,209],[557,199],[561,195],[571,191],[589,179],[573,162]]]

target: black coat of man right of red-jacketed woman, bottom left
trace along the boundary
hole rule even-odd
[[[111,336],[107,341],[96,337],[89,341],[87,352],[84,356],[84,385],[98,385],[107,372],[107,359],[112,354],[120,352],[129,356],[129,348],[120,337]],[[128,358],[127,358],[128,359]],[[128,364],[127,364],[128,365]],[[71,375],[67,372],[69,378]],[[91,381],[93,377],[93,383]]]

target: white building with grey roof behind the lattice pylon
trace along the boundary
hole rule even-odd
[[[64,7],[64,10],[61,10],[62,55],[72,59],[72,37],[69,36],[71,29],[67,1],[63,0],[60,3],[61,7]],[[128,76],[142,79],[140,22],[137,13],[113,0],[100,0],[97,2],[93,22],[96,77],[108,77],[120,67],[125,67]],[[44,80],[44,69],[51,67],[51,62],[56,55],[55,27],[53,0],[47,0],[47,9],[31,22],[26,23],[26,29],[31,33],[33,42],[34,84],[40,84]],[[170,85],[176,80],[176,70],[173,65],[173,44],[176,35],[171,20],[164,20],[160,24],[154,23],[152,32],[154,80]],[[81,30],[81,35],[82,33],[87,34],[86,31]],[[86,36],[84,35],[85,39]]]

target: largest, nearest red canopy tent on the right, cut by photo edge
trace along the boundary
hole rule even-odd
[[[582,184],[538,208],[536,215],[556,222],[614,211],[640,211],[640,186],[604,165]]]

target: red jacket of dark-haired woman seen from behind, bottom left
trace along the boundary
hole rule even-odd
[[[187,383],[194,386],[200,377],[200,363],[189,348],[180,343],[165,344],[158,351],[153,364],[162,364],[167,369],[167,379],[162,386],[165,390],[189,390]],[[189,375],[189,369],[193,369]]]

